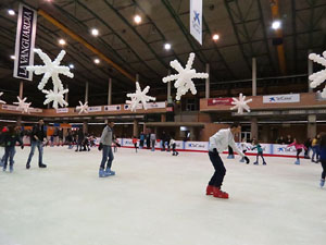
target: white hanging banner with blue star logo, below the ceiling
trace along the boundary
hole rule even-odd
[[[202,45],[202,0],[190,0],[190,34]]]

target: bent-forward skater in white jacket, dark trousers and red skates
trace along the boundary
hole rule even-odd
[[[210,137],[209,156],[215,172],[206,187],[206,195],[213,195],[217,198],[228,198],[228,194],[221,191],[226,169],[220,157],[220,154],[227,149],[227,146],[230,146],[236,152],[238,152],[238,155],[244,158],[247,163],[249,163],[249,158],[238,149],[234,139],[234,135],[240,132],[241,125],[234,123],[229,128],[220,130],[216,134]]]

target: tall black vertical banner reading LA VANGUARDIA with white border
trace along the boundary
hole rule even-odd
[[[13,76],[16,78],[33,79],[33,73],[28,72],[26,66],[34,64],[36,20],[36,10],[20,4],[13,73]]]

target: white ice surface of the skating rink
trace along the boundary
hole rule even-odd
[[[101,152],[45,148],[48,169],[0,172],[1,245],[322,245],[326,188],[319,164],[266,158],[267,166],[226,159],[230,199],[205,196],[206,154],[118,149],[115,176],[99,179]],[[3,149],[0,149],[3,152]]]

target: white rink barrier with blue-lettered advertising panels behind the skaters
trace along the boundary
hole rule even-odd
[[[23,138],[24,145],[29,146],[29,138]],[[134,148],[133,139],[131,138],[117,138],[118,144],[123,148]],[[100,143],[100,138],[96,138],[96,145],[98,146]],[[189,151],[189,152],[209,152],[209,142],[184,142],[184,140],[176,140],[176,150],[177,151]],[[292,147],[287,147],[287,145],[278,145],[278,144],[260,144],[263,148],[263,152],[265,157],[287,157],[287,158],[296,158],[297,150]],[[138,139],[139,146],[139,139]],[[146,144],[145,144],[146,146]],[[240,143],[237,143],[237,146],[240,148]],[[160,139],[155,143],[155,150],[161,150],[162,142]],[[167,148],[167,147],[165,147]],[[146,147],[143,149],[147,149]],[[228,151],[223,151],[223,154],[228,154]],[[235,152],[237,155],[237,152]],[[256,150],[251,150],[250,147],[247,148],[247,156],[256,156]],[[300,158],[303,158],[303,151],[301,152]]]

